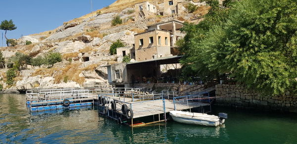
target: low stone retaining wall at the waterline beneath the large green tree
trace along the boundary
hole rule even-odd
[[[216,99],[216,105],[297,112],[297,96],[290,92],[282,96],[263,96],[243,85],[217,84],[215,94],[221,97]]]

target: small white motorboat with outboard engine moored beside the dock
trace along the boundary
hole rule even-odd
[[[205,126],[224,124],[225,119],[228,118],[227,113],[219,113],[219,116],[180,110],[172,110],[169,113],[174,121]]]

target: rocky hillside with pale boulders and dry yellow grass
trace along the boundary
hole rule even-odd
[[[170,19],[190,21],[207,12],[207,7],[201,7],[200,13],[151,16],[134,21],[134,4],[141,1],[144,0],[117,0],[93,13],[65,22],[55,30],[23,36],[17,39],[18,45],[14,47],[1,47],[6,61],[16,52],[32,58],[59,52],[63,58],[62,62],[51,68],[28,66],[17,73],[13,85],[5,82],[7,69],[0,69],[0,84],[3,89],[11,92],[33,88],[106,87],[107,70],[101,66],[116,63],[116,55],[109,54],[113,41],[120,39],[129,46],[134,43],[134,35],[145,32],[148,24]],[[115,16],[120,16],[123,24],[112,26],[111,21]],[[26,41],[31,41],[32,44],[26,45]]]

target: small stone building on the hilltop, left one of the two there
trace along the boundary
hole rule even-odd
[[[156,15],[157,7],[148,1],[140,2],[135,4],[135,20],[145,19],[150,15]]]

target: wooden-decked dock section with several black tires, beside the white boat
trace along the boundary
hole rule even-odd
[[[110,88],[98,91],[98,93],[94,100],[101,107],[99,113],[119,123],[125,122],[124,124],[131,127],[166,121],[166,113],[171,110],[191,111],[192,108],[210,107],[213,99],[206,91],[180,96],[174,91],[149,94],[135,88]],[[157,120],[154,118],[155,115]],[[148,116],[153,116],[152,122],[144,123],[138,120],[133,122],[133,119]]]

